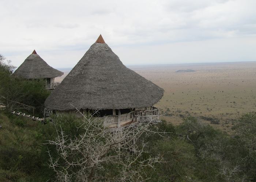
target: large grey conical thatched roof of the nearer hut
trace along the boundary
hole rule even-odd
[[[153,106],[163,89],[125,67],[99,39],[46,99],[45,107],[68,111],[75,108],[124,109]]]

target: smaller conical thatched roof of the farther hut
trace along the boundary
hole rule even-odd
[[[42,79],[55,78],[63,75],[63,72],[50,67],[34,50],[13,75],[26,79]]]

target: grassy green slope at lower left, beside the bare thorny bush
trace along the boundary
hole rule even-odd
[[[46,139],[54,137],[50,124],[0,111],[0,181],[47,181]]]

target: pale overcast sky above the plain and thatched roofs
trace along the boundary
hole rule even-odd
[[[256,0],[0,0],[0,54],[74,67],[102,34],[125,65],[256,61]]]

